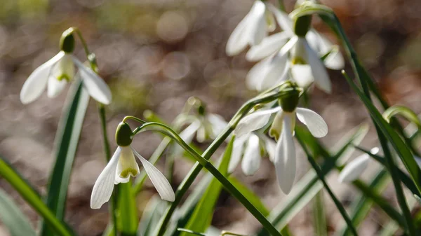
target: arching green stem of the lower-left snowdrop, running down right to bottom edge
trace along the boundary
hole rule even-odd
[[[255,216],[255,218],[260,223],[262,223],[262,225],[272,235],[281,236],[281,233],[278,230],[276,230],[276,228],[274,228],[274,225],[272,225],[272,223],[270,223],[267,220],[267,218],[263,216],[263,214],[246,197],[244,197],[244,195],[239,190],[237,190],[235,186],[232,185],[232,183],[223,174],[221,174],[221,172],[219,172],[216,167],[212,165],[212,163],[210,163],[208,160],[206,160],[201,155],[199,155],[199,153],[196,153],[196,151],[194,151],[192,147],[186,144],[185,141],[182,140],[182,138],[174,130],[172,130],[170,127],[166,125],[163,125],[161,123],[154,123],[154,122],[146,123],[145,125],[142,125],[142,127],[140,127],[140,130],[142,131],[148,130],[147,129],[148,127],[152,127],[152,130],[163,132],[164,134],[168,135],[168,137],[171,137],[171,139],[177,142],[182,148],[185,149],[185,151],[187,151],[190,155],[192,155],[196,159],[196,161],[200,163],[201,166],[208,169],[210,174],[215,176],[215,178],[218,179],[218,181],[220,181],[222,186],[224,186],[225,189],[229,193],[231,193],[231,195],[236,197],[236,199],[239,200],[239,202],[241,202],[241,204],[243,204],[243,206],[246,207],[246,209],[251,214],[253,214],[253,216]]]

